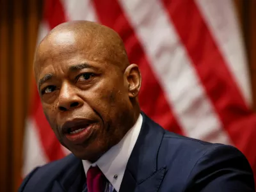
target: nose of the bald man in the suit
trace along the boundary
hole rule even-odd
[[[60,90],[58,109],[72,111],[83,106],[83,99],[77,95],[76,88],[68,83],[63,83]]]

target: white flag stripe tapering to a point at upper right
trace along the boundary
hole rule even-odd
[[[233,1],[196,0],[195,3],[204,16],[205,23],[211,30],[227,67],[234,75],[246,104],[251,106],[252,92],[248,78],[247,60]]]

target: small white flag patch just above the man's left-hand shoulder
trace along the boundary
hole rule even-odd
[[[24,134],[22,178],[26,177],[36,166],[49,162],[42,149],[36,124],[33,118],[28,118]]]

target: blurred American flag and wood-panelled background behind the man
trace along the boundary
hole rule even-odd
[[[68,154],[47,124],[36,44],[61,22],[93,20],[140,66],[141,109],[185,136],[234,145],[256,173],[256,2],[0,0],[0,191]]]

